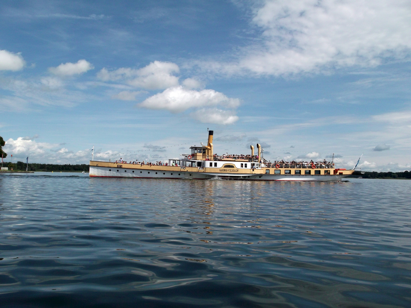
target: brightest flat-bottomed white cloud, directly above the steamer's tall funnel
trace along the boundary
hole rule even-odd
[[[173,113],[182,112],[192,107],[225,106],[235,108],[240,104],[239,99],[226,97],[215,90],[188,90],[182,86],[170,87],[161,93],[145,99],[140,107],[150,109],[166,109]]]

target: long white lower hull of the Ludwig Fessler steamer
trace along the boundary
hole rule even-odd
[[[111,171],[109,171],[111,170]],[[118,171],[117,171],[118,170]],[[239,173],[211,173],[161,171],[161,170],[135,170],[128,168],[112,168],[90,166],[90,177],[128,177],[128,178],[160,178],[160,179],[238,179],[257,181],[316,181],[330,182],[341,181],[347,175],[275,175],[275,174],[239,174]]]

